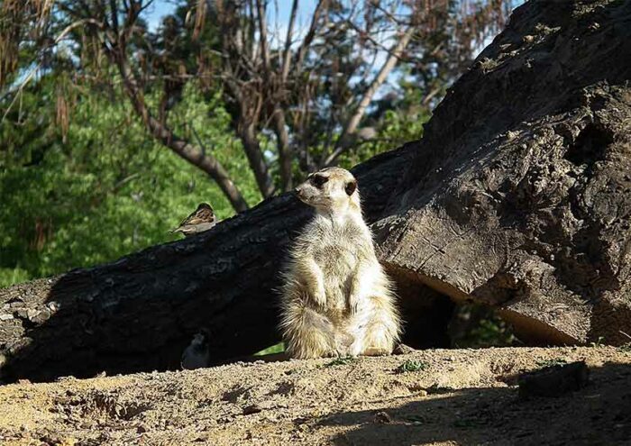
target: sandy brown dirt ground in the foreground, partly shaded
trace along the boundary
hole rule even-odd
[[[517,374],[563,360],[586,360],[590,384],[517,396]],[[0,387],[0,444],[631,444],[631,351],[423,350],[21,382]]]

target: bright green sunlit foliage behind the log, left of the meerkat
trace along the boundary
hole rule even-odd
[[[0,154],[0,287],[175,240],[168,230],[202,201],[219,218],[233,214],[206,174],[154,141],[122,96],[110,93],[84,92],[65,142],[46,107],[32,107],[19,129],[2,123],[0,135],[14,140]],[[25,95],[32,105],[51,97],[44,85]],[[178,107],[175,129],[196,128],[218,159],[230,161],[246,199],[259,201],[218,97],[203,101],[190,88]]]

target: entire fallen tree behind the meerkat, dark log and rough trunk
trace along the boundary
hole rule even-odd
[[[444,344],[444,295],[497,307],[523,339],[627,341],[630,47],[629,2],[528,3],[423,141],[354,169],[416,346]],[[202,327],[217,361],[270,345],[279,267],[308,214],[280,196],[206,234],[0,291],[2,379],[176,369]]]

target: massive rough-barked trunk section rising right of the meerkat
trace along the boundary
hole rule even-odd
[[[426,126],[382,259],[523,337],[628,341],[629,79],[630,2],[517,8]]]

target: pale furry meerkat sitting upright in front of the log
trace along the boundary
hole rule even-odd
[[[295,194],[315,215],[293,242],[283,273],[280,330],[288,355],[389,354],[401,323],[356,179],[343,168],[325,168]]]

